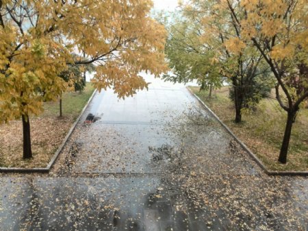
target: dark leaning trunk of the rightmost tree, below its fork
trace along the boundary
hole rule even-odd
[[[287,124],[285,125],[285,134],[283,135],[283,143],[281,145],[278,161],[282,164],[287,162],[287,151],[289,149],[292,125],[296,116],[296,111],[287,112]]]

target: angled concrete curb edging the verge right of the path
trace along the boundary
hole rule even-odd
[[[308,171],[270,171],[268,170],[266,166],[261,162],[261,160],[259,160],[259,158],[257,158],[257,156],[253,154],[253,151],[251,151],[251,149],[249,149],[242,141],[240,141],[240,139],[237,136],[235,136],[235,134],[229,129],[229,127],[227,127],[227,125],[225,125],[219,119],[219,117],[196,94],[194,94],[192,90],[190,90],[189,87],[186,87],[186,89],[190,92],[190,94],[192,94],[199,101],[199,103],[201,103],[201,105],[207,111],[209,111],[209,113],[220,123],[220,125],[222,125],[222,127],[224,127],[224,129],[227,130],[227,132],[229,132],[231,136],[233,136],[235,141],[237,141],[240,144],[240,146],[249,154],[249,156],[251,156],[251,158],[253,158],[253,160],[257,163],[257,165],[259,165],[259,167],[266,174],[268,175],[308,175]]]

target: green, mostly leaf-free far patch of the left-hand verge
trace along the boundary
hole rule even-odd
[[[67,92],[62,94],[62,115],[72,116],[76,119],[81,110],[84,108],[86,102],[90,98],[94,91],[94,87],[91,83],[87,82],[84,90],[79,92]],[[42,116],[56,116],[59,115],[59,101],[46,102],[44,104],[44,113]]]

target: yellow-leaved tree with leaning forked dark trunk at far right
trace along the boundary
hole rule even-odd
[[[232,1],[225,1],[235,25],[242,29],[242,41],[253,41],[253,47],[266,60],[277,80],[276,98],[287,112],[279,162],[286,163],[292,124],[308,98],[308,3],[306,0],[242,0],[244,19],[239,19]]]

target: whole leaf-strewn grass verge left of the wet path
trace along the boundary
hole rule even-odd
[[[93,91],[92,84],[87,83],[82,93],[64,93],[62,118],[58,101],[44,103],[44,112],[39,117],[30,117],[33,158],[29,160],[23,160],[21,120],[0,125],[0,167],[47,167]]]

